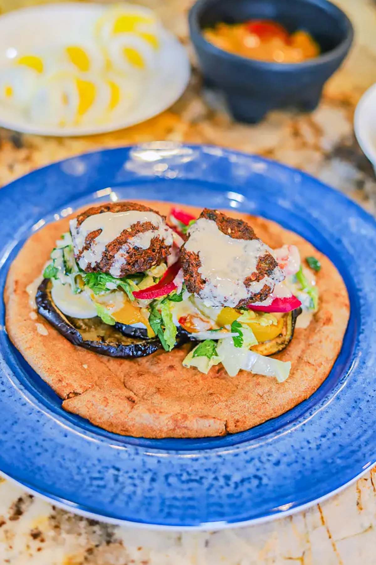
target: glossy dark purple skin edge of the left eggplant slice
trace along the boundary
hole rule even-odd
[[[38,313],[73,345],[85,347],[85,349],[89,349],[90,351],[94,351],[94,353],[99,353],[101,355],[120,357],[123,359],[145,357],[146,355],[151,355],[158,349],[162,349],[161,342],[158,338],[145,339],[143,341],[135,340],[129,344],[110,344],[105,341],[83,339],[78,329],[69,323],[68,319],[63,317],[60,311],[57,310],[51,299],[51,294],[48,292],[49,284],[50,280],[44,279],[38,287],[36,294]],[[112,326],[109,328],[112,328]]]

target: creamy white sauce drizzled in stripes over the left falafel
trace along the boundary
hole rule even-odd
[[[84,251],[78,261],[79,266],[85,270],[87,266],[94,267],[103,257],[104,250],[110,242],[116,240],[124,230],[130,231],[134,224],[150,222],[154,229],[137,234],[130,238],[126,245],[115,256],[112,276],[120,276],[120,268],[126,263],[127,253],[131,247],[138,246],[147,249],[153,237],[160,237],[166,245],[172,245],[172,231],[165,224],[165,220],[155,212],[140,212],[129,210],[125,212],[103,212],[89,216],[77,227],[77,219],[70,220],[74,254],[78,255],[85,245],[89,233],[101,229],[99,236],[91,242],[90,248]],[[117,273],[117,274],[114,274]]]

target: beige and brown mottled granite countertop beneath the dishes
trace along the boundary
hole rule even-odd
[[[0,12],[35,1],[0,0]],[[39,2],[40,3],[40,2]],[[187,46],[193,75],[170,110],[143,124],[87,138],[43,138],[0,129],[0,186],[70,155],[152,140],[216,144],[302,168],[376,212],[373,168],[353,135],[361,94],[376,81],[376,3],[340,0],[356,39],[343,67],[312,114],[272,112],[258,125],[231,121],[218,98],[201,95],[188,40],[191,0],[142,2],[161,15]],[[289,518],[222,532],[153,532],[81,518],[0,483],[0,563],[11,565],[365,565],[376,564],[376,476]]]

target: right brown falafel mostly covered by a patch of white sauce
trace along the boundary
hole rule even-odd
[[[227,236],[228,240],[223,236],[216,237],[218,230],[214,229],[213,231],[213,225],[208,227],[208,224],[201,220],[209,220],[215,223],[219,232]],[[202,266],[202,257],[205,254],[204,241],[207,241],[213,235],[214,239],[211,244],[213,245],[213,253],[211,255],[214,258],[214,267],[212,263],[210,266],[211,276],[205,278],[203,276],[205,268]],[[193,240],[192,244],[189,243],[192,237],[194,237],[194,244]],[[244,254],[240,258],[231,255],[235,253],[232,249],[234,246],[228,246],[228,244],[231,244],[231,240],[242,240],[239,243],[241,246],[244,245]],[[251,240],[254,240],[252,246],[254,253],[250,246],[246,244],[247,241]],[[240,249],[243,251],[242,247]],[[239,248],[237,252],[238,250]],[[247,253],[249,254],[247,255]],[[229,218],[222,212],[208,208],[201,212],[196,224],[193,224],[188,231],[188,240],[181,249],[180,261],[188,292],[204,299],[206,304],[210,306],[245,308],[251,303],[262,302],[268,298],[275,284],[284,279],[284,274],[278,267],[276,259],[270,253],[269,247],[258,239],[249,224],[243,220]],[[231,268],[228,271],[223,270],[226,268],[223,267],[226,261],[228,265],[232,266],[232,270]],[[255,261],[255,268],[250,271],[249,268],[253,261]],[[216,269],[216,264],[218,269]],[[223,275],[223,273],[225,274]],[[221,287],[224,278],[233,280],[233,285]],[[221,288],[231,288],[232,295],[221,295]],[[237,300],[237,298],[240,299]]]

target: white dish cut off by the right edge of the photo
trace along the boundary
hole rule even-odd
[[[362,95],[354,115],[355,135],[376,174],[376,83]]]

